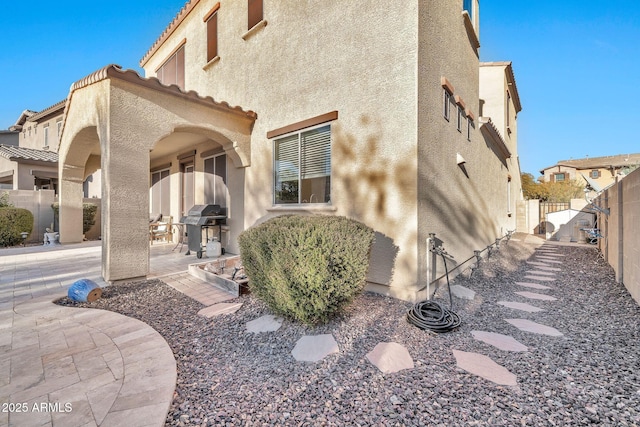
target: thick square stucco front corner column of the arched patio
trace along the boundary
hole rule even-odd
[[[149,136],[111,118],[102,144],[102,277],[107,282],[149,273]]]

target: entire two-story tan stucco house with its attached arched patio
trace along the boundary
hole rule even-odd
[[[148,273],[149,212],[216,203],[232,253],[277,215],[362,221],[370,289],[423,298],[444,273],[430,233],[462,262],[516,227],[520,101],[510,63],[480,66],[478,8],[189,1],[144,55],[147,78],[109,65],[71,87],[61,241],[81,240],[77,194],[102,165],[107,281]]]

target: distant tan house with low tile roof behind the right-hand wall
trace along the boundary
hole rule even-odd
[[[640,153],[617,156],[587,157],[584,159],[561,160],[540,171],[546,182],[562,182],[577,179],[589,183],[596,192],[603,190],[640,166]]]

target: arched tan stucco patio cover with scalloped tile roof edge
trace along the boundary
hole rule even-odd
[[[135,71],[109,65],[76,82],[59,149],[60,241],[82,239],[82,182],[102,169],[102,274],[106,281],[149,271],[149,166],[159,141],[176,132],[222,146],[236,167],[251,158],[256,114]]]

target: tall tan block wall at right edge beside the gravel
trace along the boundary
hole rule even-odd
[[[624,283],[640,304],[640,239],[635,233],[640,224],[640,169],[620,179],[595,200],[598,226],[604,236],[598,245],[613,267],[616,281]]]

